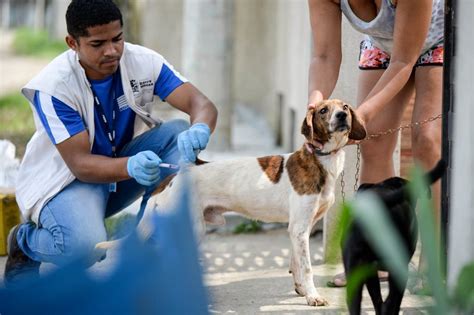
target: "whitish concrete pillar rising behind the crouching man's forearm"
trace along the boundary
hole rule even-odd
[[[211,150],[231,148],[234,4],[233,0],[184,1],[183,73],[219,111]]]

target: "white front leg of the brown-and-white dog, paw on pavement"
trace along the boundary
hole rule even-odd
[[[314,199],[313,202],[306,200],[305,203],[301,202],[305,201],[301,200],[301,196],[296,199],[297,201],[294,204],[290,203],[290,224],[288,226],[292,245],[290,268],[295,282],[295,290],[298,294],[306,297],[308,305],[328,305],[314,286],[309,252],[309,234],[314,215]],[[299,207],[299,209],[295,207]]]

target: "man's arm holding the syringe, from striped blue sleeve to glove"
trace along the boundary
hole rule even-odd
[[[148,186],[159,179],[161,159],[155,153],[145,151],[123,158],[92,154],[89,134],[77,110],[40,91],[35,92],[33,103],[45,132],[79,180],[110,183],[133,177]]]

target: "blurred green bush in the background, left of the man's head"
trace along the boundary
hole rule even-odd
[[[67,45],[62,40],[51,39],[46,31],[19,28],[14,35],[13,49],[21,55],[52,58],[64,52]]]

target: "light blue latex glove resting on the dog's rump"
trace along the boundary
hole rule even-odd
[[[211,129],[208,125],[197,123],[178,135],[178,150],[185,162],[194,162],[199,151],[209,142]]]

